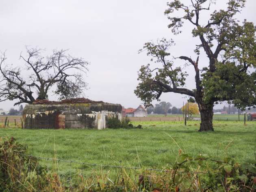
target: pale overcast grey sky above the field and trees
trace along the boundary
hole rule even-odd
[[[225,5],[224,2],[227,1],[218,0],[211,10]],[[69,54],[91,63],[85,77],[90,88],[85,91],[87,98],[137,108],[142,103],[134,94],[137,71],[141,65],[150,63],[145,52],[138,54],[144,43],[172,38],[176,43],[169,50],[172,56],[191,56],[193,60],[197,57],[193,50],[199,41],[191,39],[193,26],[174,36],[167,28],[166,3],[167,0],[2,0],[0,51],[5,51],[7,64],[23,65],[19,58],[25,45],[46,48],[49,54],[53,49],[69,49]],[[247,0],[246,8],[237,17],[256,24],[255,7],[256,0]],[[200,68],[208,65],[203,55],[199,59]],[[187,88],[193,89],[193,68],[187,71],[191,71]],[[49,98],[57,100],[54,96]],[[187,99],[174,93],[161,96],[162,101],[178,108]],[[0,108],[9,110],[14,103],[0,102]]]

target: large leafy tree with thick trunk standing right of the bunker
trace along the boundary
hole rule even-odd
[[[171,21],[168,27],[174,35],[181,35],[183,25],[194,26],[191,34],[198,39],[198,45],[194,48],[197,56],[182,53],[170,59],[168,49],[174,45],[173,40],[163,38],[156,43],[145,43],[141,51],[147,51],[154,63],[141,67],[138,78],[140,82],[135,94],[144,101],[145,106],[150,105],[153,99],[159,100],[162,93],[189,95],[189,101],[199,106],[199,131],[213,131],[214,104],[228,101],[241,109],[256,104],[256,30],[253,23],[244,20],[241,24],[234,19],[234,15],[245,6],[245,0],[226,0],[225,10],[213,11],[208,21],[206,15],[201,19],[200,14],[210,11],[210,6],[216,1],[182,2],[175,0],[167,3],[165,14]],[[175,11],[183,16],[176,17]],[[199,62],[201,49],[208,57],[207,67]],[[186,67],[192,67],[189,71],[194,70],[195,89],[185,88],[189,74],[184,71],[185,67],[176,65],[178,60],[184,60]]]

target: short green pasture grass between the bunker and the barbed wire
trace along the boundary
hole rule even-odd
[[[28,130],[0,129],[28,145],[29,154],[92,164],[135,167],[171,166],[180,150],[215,160],[228,155],[239,162],[255,162],[256,123],[215,122],[215,132],[197,132],[199,125],[178,121],[133,122],[143,129]],[[231,142],[231,143],[230,143]],[[230,143],[228,149],[227,146]]]

